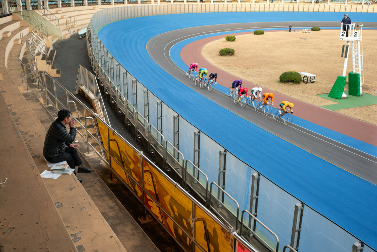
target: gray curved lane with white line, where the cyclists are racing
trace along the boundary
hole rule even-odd
[[[287,28],[289,24],[292,24],[294,28],[339,26],[339,22],[262,22],[200,26],[166,32],[153,37],[147,43],[147,51],[150,57],[166,72],[220,106],[234,112],[240,117],[245,118],[272,134],[305,149],[313,155],[323,158],[324,160],[362,177],[371,183],[377,184],[377,157],[308,131],[297,125],[291,124],[290,126],[286,126],[281,121],[268,118],[263,112],[255,111],[251,107],[243,109],[241,106],[234,106],[233,98],[227,97],[226,94],[219,92],[216,89],[212,92],[208,92],[207,89],[201,89],[199,86],[195,86],[193,81],[185,77],[184,71],[176,66],[169,56],[170,48],[172,48],[173,45],[179,41],[196,37],[198,35],[246,29]],[[376,23],[373,22],[364,22],[364,26],[377,27]],[[164,48],[164,51],[162,51],[161,48]],[[257,169],[257,167],[255,168]]]

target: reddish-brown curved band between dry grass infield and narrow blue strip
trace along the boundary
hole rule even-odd
[[[241,35],[241,34],[248,34],[251,32],[242,32],[242,33],[235,33],[235,34],[227,34],[227,35]],[[224,38],[224,35],[219,35],[215,37],[208,37],[201,40],[197,40],[189,45],[186,45],[181,51],[181,58],[184,63],[189,66],[193,62],[199,63],[199,68],[204,66],[208,69],[208,73],[217,72],[218,73],[218,81],[220,85],[229,88],[231,83],[234,80],[237,80],[238,77],[229,74],[228,72],[222,71],[221,69],[217,68],[216,66],[211,65],[208,63],[207,60],[203,58],[201,55],[201,49],[207,43]],[[335,80],[335,78],[334,78]],[[251,82],[243,80],[242,86],[248,88],[254,88],[254,85]],[[271,90],[267,88],[263,88],[263,92],[269,92]],[[311,121],[316,123],[320,126],[326,127],[333,131],[337,131],[349,137],[356,138],[363,142],[372,144],[377,146],[377,126],[374,124],[366,123],[364,121],[357,120],[352,117],[348,117],[346,115],[339,114],[334,111],[330,111],[328,109],[324,109],[318,106],[314,106],[312,104],[296,100],[289,96],[279,94],[275,91],[274,92],[274,104],[279,103],[283,100],[289,100],[294,103],[294,115],[305,119],[307,121]]]

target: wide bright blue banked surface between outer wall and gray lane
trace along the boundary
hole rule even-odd
[[[351,13],[349,16],[352,20],[363,22],[377,21],[377,15],[372,13]],[[190,121],[245,163],[255,167],[278,186],[376,249],[377,186],[268,133],[213,103],[167,74],[146,51],[147,42],[155,35],[192,26],[271,21],[340,22],[341,18],[342,15],[339,13],[329,12],[275,12],[273,15],[269,12],[161,15],[111,23],[102,28],[98,36],[124,68],[185,120]],[[299,118],[297,120],[299,121]],[[244,132],[245,135],[261,134],[264,141],[270,143],[270,148],[262,149],[260,154],[261,157],[268,157],[270,164],[266,165],[264,160],[251,158],[253,153],[248,143],[234,141],[233,133],[229,129],[234,128],[235,121],[239,132]],[[306,121],[301,123],[307,126],[310,124]],[[314,126],[311,125],[311,127]],[[327,134],[333,135],[332,132],[327,132]],[[358,149],[371,147],[341,134],[337,137],[341,141],[348,141],[346,143],[348,145],[359,146]],[[288,146],[292,150],[290,159],[285,161],[283,169],[280,169],[281,154],[278,151],[281,146]]]

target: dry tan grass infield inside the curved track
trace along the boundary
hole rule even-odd
[[[363,93],[373,94],[377,90],[377,31],[363,30]],[[301,38],[307,38],[305,40]],[[343,73],[344,58],[340,57],[342,45],[338,30],[319,32],[265,32],[264,35],[236,35],[235,41],[224,39],[208,43],[202,48],[202,55],[211,64],[244,80],[273,91],[289,95],[317,106],[335,102],[317,97],[327,94],[338,75]],[[219,50],[233,48],[235,54],[222,57]],[[306,71],[316,75],[314,83],[301,82],[298,85],[279,83],[279,76],[285,71]],[[347,75],[352,71],[351,51]],[[347,76],[348,77],[348,76]],[[348,90],[346,85],[345,91]],[[377,124],[377,105],[341,109],[337,112],[369,123]]]

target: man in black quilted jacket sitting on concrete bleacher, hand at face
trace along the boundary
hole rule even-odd
[[[69,124],[69,133],[66,130],[66,124]],[[75,120],[71,118],[71,112],[62,109],[58,112],[58,118],[52,122],[50,128],[44,138],[43,156],[51,163],[67,161],[71,169],[78,166],[77,172],[93,172],[83,166],[76,148],[77,144],[73,144],[76,137]],[[68,147],[65,147],[68,146]],[[76,175],[76,171],[74,171]],[[82,180],[79,179],[81,182]]]

